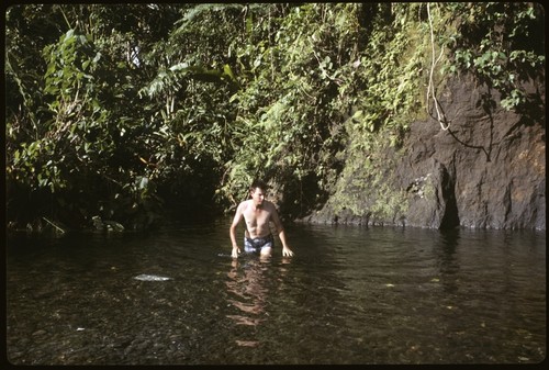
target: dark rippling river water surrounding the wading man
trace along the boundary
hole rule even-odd
[[[148,235],[10,238],[8,358],[367,365],[546,357],[545,232],[292,225],[287,234],[293,258],[282,258],[278,243],[270,260],[237,262],[228,220]]]

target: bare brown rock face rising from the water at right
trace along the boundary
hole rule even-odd
[[[448,128],[435,119],[414,122],[402,160],[389,169],[408,206],[385,224],[546,229],[545,86],[528,90],[539,103],[518,114],[471,80],[450,81],[439,97]],[[325,206],[305,220],[338,218]]]

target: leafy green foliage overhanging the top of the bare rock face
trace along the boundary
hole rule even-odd
[[[539,3],[450,3],[458,22],[441,32],[452,51],[444,71],[472,72],[481,83],[502,93],[506,110],[524,110],[528,97],[520,83],[545,69],[545,12]]]

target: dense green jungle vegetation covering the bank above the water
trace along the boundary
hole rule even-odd
[[[520,110],[544,27],[527,2],[10,7],[7,218],[145,228],[232,210],[256,177],[302,216],[437,115],[447,76]]]

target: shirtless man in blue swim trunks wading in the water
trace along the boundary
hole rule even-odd
[[[237,258],[240,248],[236,243],[236,226],[242,218],[246,223],[246,232],[244,234],[244,250],[247,253],[259,253],[261,257],[271,255],[274,239],[271,234],[269,223],[272,222],[277,228],[277,233],[282,242],[282,256],[293,256],[285,242],[284,228],[280,222],[274,204],[265,200],[267,184],[260,180],[256,180],[249,188],[251,199],[242,202],[236,209],[236,214],[231,224],[229,235],[233,243],[233,258]]]

